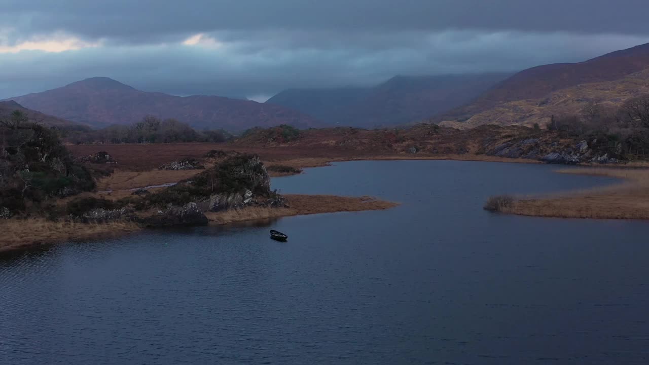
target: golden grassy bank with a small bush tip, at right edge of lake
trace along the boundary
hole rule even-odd
[[[485,209],[523,216],[649,220],[649,170],[587,168],[561,170],[624,179],[613,186],[564,192],[543,198],[500,195],[491,197]]]

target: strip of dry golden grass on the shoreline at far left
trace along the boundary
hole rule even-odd
[[[3,220],[0,222],[0,231],[3,233],[0,238],[0,253],[70,240],[113,237],[138,229],[138,225],[130,222],[70,223],[47,221],[42,218]]]

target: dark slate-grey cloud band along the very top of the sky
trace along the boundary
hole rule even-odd
[[[646,32],[646,0],[5,0],[21,32],[88,37],[246,29]],[[13,20],[12,20],[13,19]],[[6,23],[5,23],[6,24]]]

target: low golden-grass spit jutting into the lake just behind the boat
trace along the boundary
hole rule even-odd
[[[225,212],[208,212],[205,215],[213,223],[228,223],[266,220],[305,214],[333,212],[358,212],[361,210],[384,210],[396,207],[397,203],[374,199],[373,197],[343,197],[336,195],[285,195],[289,208],[249,207]]]

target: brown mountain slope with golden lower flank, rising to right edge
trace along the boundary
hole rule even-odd
[[[649,44],[584,62],[525,69],[500,82],[474,101],[437,118],[447,125],[531,124],[552,114],[572,112],[585,103],[617,105],[646,92]]]

